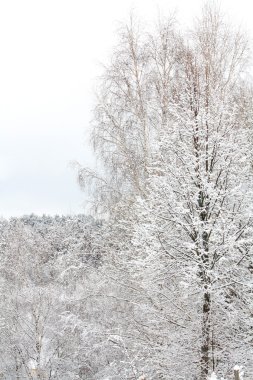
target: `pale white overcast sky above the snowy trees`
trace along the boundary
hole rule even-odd
[[[87,143],[95,78],[129,11],[149,22],[177,9],[189,24],[203,0],[0,0],[0,215],[83,212],[69,162]],[[221,0],[253,35],[253,2]]]

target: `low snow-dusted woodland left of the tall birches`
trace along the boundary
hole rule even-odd
[[[107,365],[94,348],[106,316],[91,302],[99,228],[82,215],[1,221],[1,378],[90,379]]]

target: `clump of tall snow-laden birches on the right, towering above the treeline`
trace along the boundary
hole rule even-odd
[[[80,181],[95,180],[120,236],[112,271],[146,339],[132,352],[154,345],[156,378],[186,375],[176,357],[192,378],[231,373],[252,341],[247,40],[209,5],[188,33],[169,20],[120,37],[93,131],[105,176]]]

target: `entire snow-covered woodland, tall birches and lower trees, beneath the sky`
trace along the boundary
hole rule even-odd
[[[0,378],[253,378],[250,57],[208,3],[191,30],[118,30],[93,217],[1,221]]]

